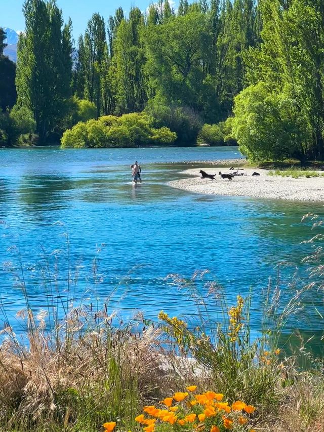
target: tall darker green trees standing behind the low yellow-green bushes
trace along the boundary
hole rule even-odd
[[[204,123],[232,113],[245,82],[241,53],[260,37],[254,0],[180,0],[177,12],[159,0],[128,17],[118,8],[107,22],[94,14],[76,44],[55,0],[26,0],[23,12],[17,109],[31,113],[43,144],[79,120],[76,101],[89,101],[96,118],[145,110],[153,128],[193,144]]]

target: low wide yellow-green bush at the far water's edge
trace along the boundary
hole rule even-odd
[[[79,122],[64,132],[61,142],[62,147],[136,147],[173,144],[176,138],[176,133],[166,127],[154,128],[147,114],[134,112]]]

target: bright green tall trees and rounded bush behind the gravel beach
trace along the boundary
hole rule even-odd
[[[233,135],[251,160],[324,159],[324,3],[263,0],[262,44],[244,54],[250,87]]]

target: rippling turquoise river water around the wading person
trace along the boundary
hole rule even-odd
[[[109,299],[110,311],[126,320],[139,311],[154,319],[161,309],[195,313],[188,291],[167,276],[190,278],[208,269],[198,289],[210,316],[219,313],[217,301],[207,297],[205,283],[213,280],[230,301],[252,293],[258,330],[261,291],[269,276],[276,279],[276,264],[290,264],[281,276],[288,292],[310,250],[300,245],[313,234],[302,216],[324,212],[321,204],[213,197],[167,184],[183,169],[197,167],[198,173],[206,166],[185,161],[238,157],[235,147],[1,150],[0,320],[20,325],[22,270],[35,311],[46,309],[53,292],[64,304],[70,271],[73,304]],[[135,159],[143,170],[136,186],[129,168]],[[299,277],[306,274],[301,270]],[[305,331],[323,327],[314,304],[321,307],[321,299],[309,299]]]

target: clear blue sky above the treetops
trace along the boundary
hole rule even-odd
[[[0,27],[23,30],[25,27],[22,14],[23,0],[0,0],[0,3]],[[68,17],[72,19],[75,39],[85,31],[88,20],[95,12],[99,12],[107,21],[108,16],[112,15],[119,6],[128,13],[131,6],[137,6],[145,11],[150,3],[153,3],[152,0],[57,0],[58,6],[63,11],[64,20]]]

